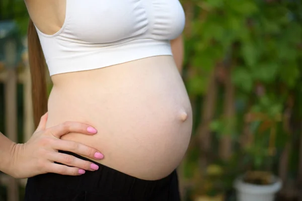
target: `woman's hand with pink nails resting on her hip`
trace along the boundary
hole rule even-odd
[[[31,177],[47,172],[81,175],[85,173],[85,170],[94,171],[98,169],[98,166],[90,161],[84,161],[72,155],[58,152],[58,150],[70,151],[90,158],[102,159],[103,155],[94,148],[60,139],[62,135],[69,132],[93,135],[97,133],[96,129],[76,122],[65,122],[45,129],[46,121],[47,113],[41,118],[37,130],[28,142],[15,144],[11,166],[12,172],[9,174],[16,178]],[[65,165],[56,164],[54,161]]]

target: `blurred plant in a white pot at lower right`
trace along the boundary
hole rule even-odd
[[[279,105],[270,105],[265,109],[257,107],[246,116],[252,137],[242,153],[243,162],[249,165],[245,167],[248,171],[234,182],[238,201],[273,201],[276,192],[281,189],[282,181],[272,170],[280,111]]]

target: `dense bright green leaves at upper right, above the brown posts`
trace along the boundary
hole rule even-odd
[[[183,4],[191,2],[196,3],[184,0]],[[189,22],[194,45],[188,50],[187,63],[201,68],[201,73],[189,80],[189,91],[203,94],[205,77],[225,57],[232,60],[226,66],[235,66],[234,84],[248,94],[256,82],[281,81],[286,87],[293,87],[301,73],[297,59],[301,57],[298,45],[302,42],[302,28],[288,7],[299,4],[298,1],[200,1],[195,18]]]

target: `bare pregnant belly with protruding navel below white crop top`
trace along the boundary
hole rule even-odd
[[[105,158],[97,162],[141,179],[163,178],[179,165],[191,136],[192,112],[172,57],[52,80],[47,127],[78,121],[98,130],[94,136],[70,133],[62,139],[100,150]]]

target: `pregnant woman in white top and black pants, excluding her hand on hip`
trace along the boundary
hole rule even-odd
[[[185,24],[180,2],[25,2],[32,20],[36,123],[48,110],[46,128],[66,121],[91,125],[97,134],[68,133],[61,139],[105,156],[101,161],[89,158],[95,171],[81,176],[29,178],[25,199],[179,200],[175,169],[192,129],[191,105],[179,73]],[[48,108],[42,50],[53,82]],[[67,164],[75,157],[87,160],[60,152]]]

